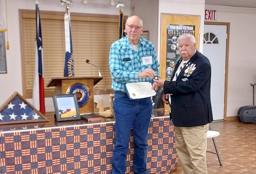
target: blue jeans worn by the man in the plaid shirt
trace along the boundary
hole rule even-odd
[[[130,132],[134,136],[134,173],[146,174],[146,137],[152,114],[151,98],[130,100],[127,94],[115,92],[115,147],[112,157],[112,174],[125,173],[126,151]]]

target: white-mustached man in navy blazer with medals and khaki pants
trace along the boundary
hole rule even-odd
[[[193,35],[181,35],[178,46],[181,58],[172,79],[154,79],[152,88],[164,88],[162,99],[169,104],[170,118],[176,126],[175,142],[182,174],[205,174],[206,135],[212,121],[210,62],[197,51]]]

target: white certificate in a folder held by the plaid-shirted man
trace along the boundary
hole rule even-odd
[[[130,99],[147,98],[156,95],[155,90],[152,90],[150,82],[132,82],[126,83],[125,90]]]

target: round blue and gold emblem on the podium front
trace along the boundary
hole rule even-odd
[[[82,83],[75,83],[69,86],[66,94],[76,94],[78,107],[86,105],[90,98],[88,86]]]

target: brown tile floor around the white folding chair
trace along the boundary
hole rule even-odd
[[[212,122],[212,130],[220,132],[215,138],[222,165],[217,155],[207,153],[208,174],[254,174],[256,173],[256,124],[238,120]],[[214,151],[212,139],[207,140],[207,150]],[[180,174],[180,164],[171,174]]]

